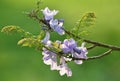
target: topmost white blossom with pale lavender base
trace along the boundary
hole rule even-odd
[[[46,7],[44,10],[41,10],[44,14],[45,20],[51,20],[54,18],[54,16],[58,13],[57,10],[49,10],[48,7]]]

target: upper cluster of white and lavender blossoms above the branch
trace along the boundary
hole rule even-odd
[[[52,28],[55,32],[58,32],[58,34],[63,35],[65,34],[63,30],[63,19],[54,19],[54,16],[58,13],[58,11],[53,10],[50,11],[48,7],[46,7],[44,10],[41,10],[44,14],[44,20],[50,25],[50,28]]]

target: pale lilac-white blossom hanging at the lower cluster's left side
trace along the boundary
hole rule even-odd
[[[51,70],[58,70],[57,66],[57,55],[45,48],[43,48],[43,61],[46,65],[51,66]]]

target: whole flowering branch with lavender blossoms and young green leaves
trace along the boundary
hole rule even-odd
[[[39,3],[37,3],[37,5],[39,5]],[[61,76],[64,74],[68,77],[72,76],[72,71],[68,67],[67,62],[74,61],[76,64],[82,64],[85,60],[99,59],[110,54],[112,51],[120,51],[120,47],[118,46],[108,45],[81,37],[79,33],[81,26],[84,28],[93,25],[95,19],[94,13],[84,15],[82,19],[79,20],[77,27],[74,27],[74,32],[72,32],[63,27],[63,19],[54,19],[54,16],[58,13],[57,10],[51,11],[46,7],[41,11],[44,15],[42,18],[39,17],[39,7],[27,13],[30,18],[37,20],[39,24],[42,25],[39,35],[33,35],[16,26],[4,27],[2,32],[17,32],[23,34],[24,38],[18,41],[18,45],[36,47],[38,50],[42,51],[44,63],[50,65],[51,70],[58,70]],[[53,31],[57,32],[59,35],[66,34],[70,39],[64,39],[64,41],[56,40],[53,42],[50,40],[50,33]],[[78,45],[80,40],[83,42],[81,46]],[[85,47],[85,43],[89,43],[91,46]],[[109,50],[97,56],[87,57],[88,50],[94,49],[95,47],[108,48]]]

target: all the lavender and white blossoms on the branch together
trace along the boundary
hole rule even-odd
[[[65,31],[63,30],[64,20],[54,19],[54,16],[58,11],[50,11],[48,7],[46,7],[42,12],[44,14],[45,22],[49,24],[51,29],[60,35],[65,34]],[[82,64],[82,60],[73,60],[72,58],[87,59],[86,54],[88,52],[86,47],[84,47],[85,43],[82,43],[79,47],[73,38],[65,39],[63,42],[58,40],[55,42],[58,46],[57,48],[61,50],[61,53],[59,53],[59,51],[57,52],[48,49],[54,48],[53,42],[50,40],[49,31],[46,31],[46,36],[41,42],[45,44],[42,52],[44,63],[50,65],[51,70],[58,70],[61,76],[64,74],[68,77],[72,76],[72,71],[68,67],[67,62],[74,61],[76,64]],[[57,59],[57,57],[59,57],[59,59]]]

